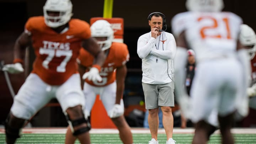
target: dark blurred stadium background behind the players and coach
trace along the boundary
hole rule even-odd
[[[18,35],[23,31],[26,20],[31,16],[43,15],[46,0],[0,0],[0,61],[12,63],[13,46]],[[137,55],[138,37],[149,31],[147,17],[151,12],[162,12],[166,16],[167,32],[171,32],[170,21],[174,15],[186,11],[186,0],[115,0],[112,17],[124,19],[124,43],[127,44],[130,61],[127,63],[128,74],[124,91],[125,116],[131,127],[143,127],[145,106],[141,85],[141,59]],[[73,0],[73,18],[90,22],[92,17],[103,16],[103,0]],[[255,0],[224,0],[224,11],[231,11],[242,17],[244,23],[256,31]],[[26,76],[31,71],[34,59],[33,50],[27,50],[25,74],[10,74],[10,80],[17,93]],[[0,72],[0,125],[9,113],[13,99],[7,87],[4,73]],[[175,115],[174,126],[180,126],[179,114]],[[101,119],[101,115],[97,116]],[[102,123],[98,121],[97,123]],[[40,110],[31,120],[33,127],[66,127],[65,117],[56,100]],[[97,124],[96,124],[97,125]],[[238,125],[239,126],[239,125]],[[256,127],[256,122],[250,125]],[[102,126],[108,128],[109,126]],[[92,127],[94,128],[94,127]],[[1,132],[1,131],[0,131]],[[175,133],[175,131],[174,131]],[[0,135],[2,137],[2,135]],[[0,139],[1,139],[0,137]],[[254,135],[255,137],[255,135]],[[148,140],[148,139],[147,139]],[[256,143],[256,140],[254,141]]]

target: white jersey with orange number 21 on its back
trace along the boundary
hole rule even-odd
[[[197,60],[232,54],[236,49],[242,19],[232,12],[183,12],[172,19],[172,32],[185,32],[188,46]]]

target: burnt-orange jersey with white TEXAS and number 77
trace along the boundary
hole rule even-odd
[[[31,34],[36,54],[32,73],[49,85],[61,85],[78,73],[76,58],[82,40],[91,37],[89,23],[71,19],[68,30],[57,33],[44,23],[43,16],[37,16],[28,19],[25,32]]]

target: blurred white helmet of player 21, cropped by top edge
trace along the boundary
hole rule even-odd
[[[189,11],[218,12],[224,8],[223,0],[187,0],[186,7]]]

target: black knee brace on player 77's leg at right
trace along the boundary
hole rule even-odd
[[[87,121],[85,119],[85,117],[82,117],[82,118],[78,118],[78,119],[74,119],[74,120],[71,120],[68,116],[67,113],[65,113],[65,116],[66,116],[66,119],[68,121],[68,124],[70,126],[70,129],[73,133],[74,136],[77,136],[79,134],[82,134],[82,133],[85,133],[85,132],[88,132],[90,129],[91,129],[91,124],[89,123],[89,121]],[[79,126],[80,124],[83,124],[83,123],[86,123],[87,126],[86,127],[81,127],[77,130],[74,130],[74,127],[75,126]]]

